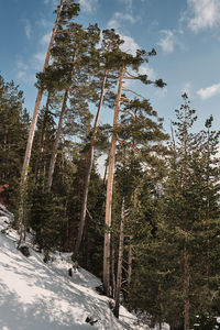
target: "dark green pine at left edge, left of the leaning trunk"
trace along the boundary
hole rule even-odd
[[[29,116],[23,109],[23,92],[13,81],[0,76],[0,185],[8,185],[6,204],[15,210],[22,155],[29,129]]]

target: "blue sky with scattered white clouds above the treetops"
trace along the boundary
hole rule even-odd
[[[35,74],[43,69],[57,0],[1,0],[0,74],[13,79],[24,92],[25,107],[33,113]],[[175,109],[187,92],[197,110],[195,130],[212,114],[219,129],[220,102],[220,0],[79,0],[77,22],[85,28],[98,23],[113,28],[125,41],[124,50],[136,48],[157,55],[141,68],[150,79],[163,78],[164,89],[133,86],[150,99],[169,132]],[[105,110],[101,121],[109,121]]]

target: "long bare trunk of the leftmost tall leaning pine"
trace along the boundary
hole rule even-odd
[[[57,29],[58,29],[61,13],[62,13],[62,10],[63,10],[64,2],[65,2],[65,0],[61,1],[57,18],[56,18],[56,21],[55,21],[55,24],[54,24],[53,33],[52,33],[50,45],[48,45],[48,48],[47,48],[46,58],[45,58],[45,62],[44,62],[43,73],[45,73],[46,68],[48,67],[48,62],[50,62],[50,57],[51,57],[51,50],[52,50],[54,38],[55,38],[56,32],[57,32]],[[18,220],[18,227],[19,227],[19,231],[20,231],[19,246],[20,246],[20,244],[21,244],[21,242],[24,238],[24,231],[22,229],[22,228],[24,228],[24,226],[22,226],[23,221],[24,221],[24,196],[26,195],[26,193],[25,193],[25,190],[26,190],[26,178],[28,178],[29,165],[30,165],[30,160],[31,160],[33,140],[34,140],[34,131],[35,131],[35,127],[36,127],[36,121],[37,121],[38,109],[40,109],[42,96],[43,96],[43,88],[40,87],[38,91],[37,91],[37,96],[36,96],[36,101],[35,101],[35,107],[34,107],[34,112],[33,112],[33,119],[32,119],[32,122],[31,122],[31,128],[30,128],[30,132],[29,132],[28,144],[26,144],[26,151],[25,151],[23,167],[22,167],[22,173],[21,173],[20,206],[19,206],[19,220]]]

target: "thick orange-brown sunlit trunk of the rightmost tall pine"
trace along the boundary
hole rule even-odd
[[[124,65],[120,73],[119,88],[117,95],[117,105],[114,109],[113,129],[118,125],[120,100],[122,92],[122,81],[124,74]],[[110,241],[111,241],[111,202],[112,202],[112,188],[113,188],[113,173],[114,173],[114,157],[117,146],[117,134],[112,134],[111,148],[109,155],[109,175],[107,184],[107,199],[106,199],[106,229],[105,229],[105,243],[103,243],[103,289],[105,294],[109,296],[110,292]]]

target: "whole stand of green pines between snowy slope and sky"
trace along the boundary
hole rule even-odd
[[[31,232],[45,257],[73,253],[102,279],[116,317],[122,304],[152,327],[220,329],[213,117],[195,131],[184,92],[165,132],[151,100],[125,86],[166,86],[140,70],[156,51],[129,54],[114,29],[76,23],[75,0],[55,15],[33,118],[20,87],[0,76],[0,202],[14,213],[18,249]],[[112,123],[101,123],[103,108]]]

